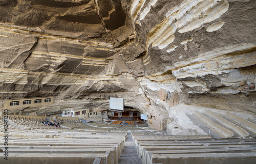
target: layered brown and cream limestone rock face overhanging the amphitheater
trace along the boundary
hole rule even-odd
[[[242,80],[256,82],[255,6],[253,0],[2,0],[0,99],[55,96],[53,105],[24,110],[50,115],[109,108],[109,96],[123,97],[158,129],[182,124],[181,104],[181,113],[189,106],[255,113],[255,92],[238,90]]]

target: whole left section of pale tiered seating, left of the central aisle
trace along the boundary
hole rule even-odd
[[[92,135],[96,133],[56,128],[40,124],[32,116],[9,118],[10,163],[118,163],[127,136],[124,132]],[[4,122],[0,120],[0,127],[4,129]],[[68,121],[73,124],[72,120]],[[0,152],[3,148],[4,142],[1,142]],[[0,163],[4,162],[6,160],[0,158]]]

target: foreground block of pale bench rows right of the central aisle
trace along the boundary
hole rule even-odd
[[[187,136],[132,133],[142,163],[254,163],[256,160],[255,138],[193,139],[189,136],[186,139]]]

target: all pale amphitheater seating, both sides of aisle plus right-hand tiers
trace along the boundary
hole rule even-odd
[[[8,163],[118,163],[127,131],[132,133],[142,163],[255,162],[256,139],[252,137],[254,117],[246,119],[232,113],[216,115],[212,112],[195,115],[207,124],[210,120],[211,124],[222,126],[234,137],[165,135],[144,123],[122,125],[98,121],[84,124],[77,118],[57,118],[57,121],[62,119],[63,122],[57,128],[40,124],[45,117],[10,115]],[[239,125],[243,125],[242,128]],[[2,119],[0,128],[3,132]],[[0,149],[3,152],[3,142]],[[0,158],[0,163],[4,162],[4,158]]]

